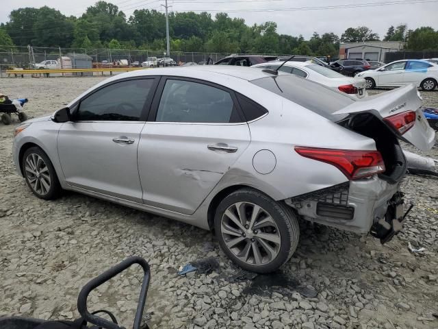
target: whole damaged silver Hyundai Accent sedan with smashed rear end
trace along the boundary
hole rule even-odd
[[[414,86],[355,100],[294,75],[235,66],[133,71],[16,128],[14,162],[42,199],[62,189],[215,230],[266,273],[298,218],[389,241],[401,230],[398,139],[435,133]]]

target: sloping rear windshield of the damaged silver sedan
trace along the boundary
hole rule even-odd
[[[322,84],[294,75],[262,77],[251,81],[251,83],[285,97],[285,99],[289,99],[289,101],[293,101],[331,121],[344,119],[346,114],[339,116],[331,114],[355,102],[354,99]]]

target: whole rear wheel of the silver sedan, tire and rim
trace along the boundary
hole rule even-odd
[[[269,273],[285,264],[300,235],[291,208],[250,188],[220,202],[214,228],[224,253],[243,269],[257,273]]]

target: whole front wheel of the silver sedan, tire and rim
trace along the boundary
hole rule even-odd
[[[44,200],[60,196],[61,185],[55,168],[40,147],[30,147],[25,151],[22,167],[27,186],[34,195]]]

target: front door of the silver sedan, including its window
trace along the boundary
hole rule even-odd
[[[67,184],[142,202],[137,149],[154,79],[109,84],[82,99],[57,141]]]

